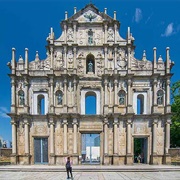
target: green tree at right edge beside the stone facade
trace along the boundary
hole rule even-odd
[[[180,147],[180,81],[173,84],[172,88],[172,124],[171,147]]]

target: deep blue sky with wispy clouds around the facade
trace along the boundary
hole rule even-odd
[[[40,59],[46,57],[46,37],[50,27],[55,36],[61,34],[60,22],[64,12],[73,15],[88,4],[89,0],[0,0],[0,136],[11,140],[10,118],[10,70],[6,66],[11,60],[11,49],[16,48],[16,60],[24,49],[29,49],[29,59],[34,60],[39,51]],[[127,27],[135,38],[135,56],[142,58],[146,50],[147,59],[153,59],[153,47],[157,47],[157,56],[165,60],[166,47],[170,47],[171,60],[175,62],[172,82],[180,79],[180,0],[92,0],[102,12],[121,22],[120,34],[126,37]]]

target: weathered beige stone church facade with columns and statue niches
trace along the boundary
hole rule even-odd
[[[12,49],[12,164],[83,162],[83,134],[97,134],[98,163],[134,163],[134,140],[143,140],[144,163],[169,164],[170,79],[173,63],[134,57],[134,37],[120,36],[120,22],[92,4],[61,22],[47,37],[47,57],[15,59]],[[95,98],[88,114],[86,98]],[[93,108],[94,108],[93,107]],[[85,149],[86,150],[86,149]],[[93,153],[90,148],[90,155]]]

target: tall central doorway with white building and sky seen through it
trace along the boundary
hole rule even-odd
[[[82,134],[82,164],[100,164],[100,134]]]

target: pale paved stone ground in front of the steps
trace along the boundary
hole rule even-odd
[[[171,172],[74,172],[74,180],[180,180]],[[0,172],[0,180],[66,180],[66,172]]]

